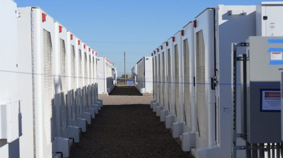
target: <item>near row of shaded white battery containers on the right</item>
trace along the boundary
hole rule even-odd
[[[233,118],[236,117],[235,124],[238,125],[233,126],[236,127],[234,130],[241,133],[242,129],[247,128],[241,124],[246,121],[245,124],[250,123],[250,120],[241,121],[242,116],[249,115],[246,114],[247,110],[241,112],[241,91],[237,91],[235,99],[231,95],[231,43],[245,42],[249,36],[256,35],[282,36],[283,23],[277,14],[282,12],[282,4],[263,2],[257,6],[219,5],[207,8],[153,51],[154,100],[151,101],[151,108],[161,121],[165,121],[166,128],[172,130],[173,137],[180,138],[184,151],[191,151],[198,158],[231,157],[233,100],[237,103],[237,113]],[[246,52],[246,48],[240,49]],[[236,70],[240,73],[240,64]],[[239,83],[239,74],[236,79],[236,83]],[[240,89],[241,85],[236,87]],[[276,112],[260,114],[264,118],[273,115],[273,120],[268,119],[271,122],[275,117],[280,119]],[[257,124],[260,125],[259,122]],[[266,129],[276,130],[266,124]],[[273,123],[272,127],[277,124]],[[273,134],[279,138],[277,142],[274,139],[246,141],[246,138],[236,138],[236,142],[237,145],[280,143],[278,132],[269,131],[269,135]],[[236,157],[251,157],[250,150],[235,152]],[[256,153],[252,156],[257,156]],[[274,152],[272,155],[279,156]]]

